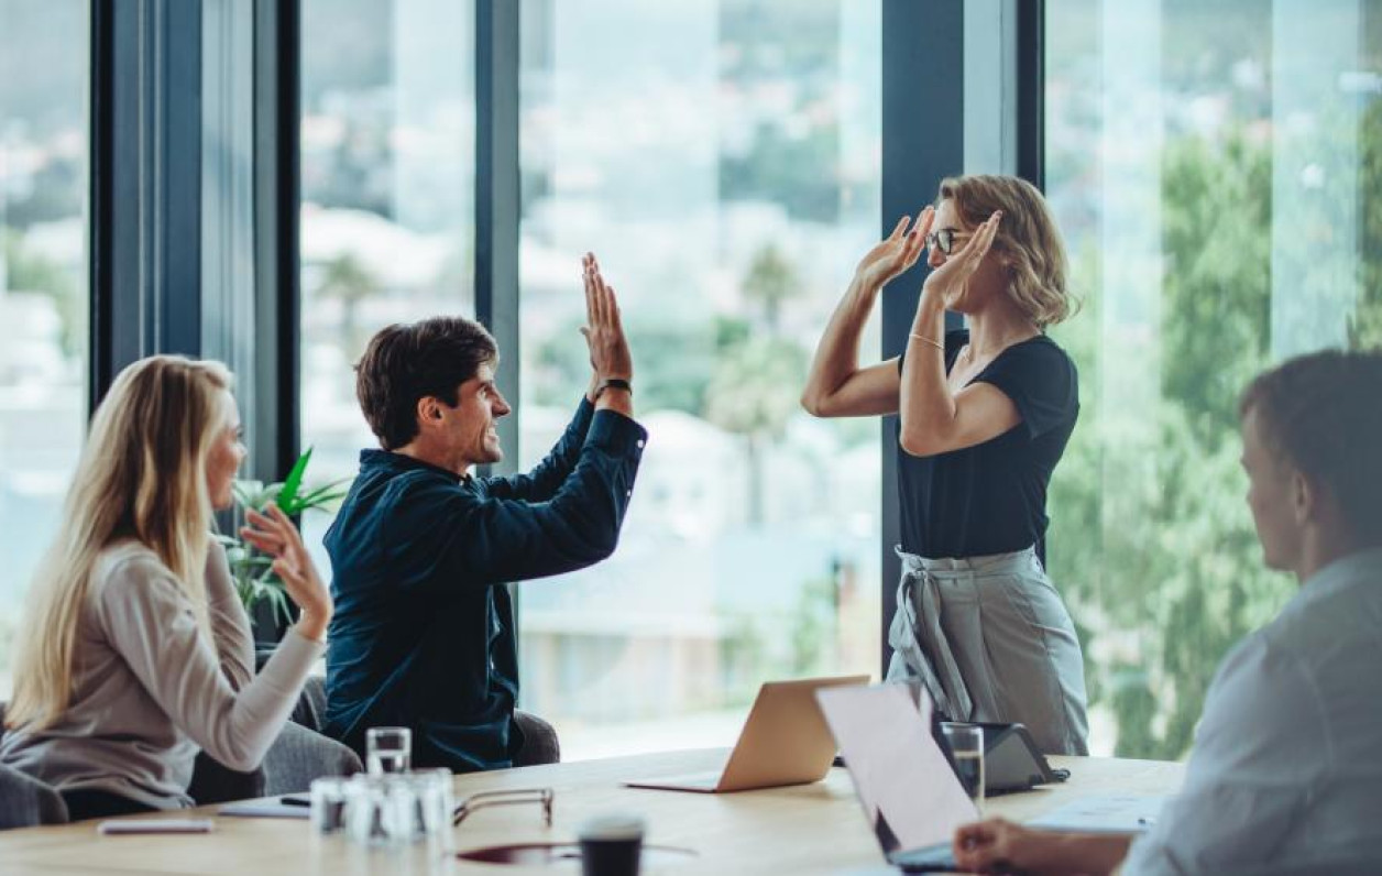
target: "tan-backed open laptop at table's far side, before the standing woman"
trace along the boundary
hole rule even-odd
[[[759,689],[723,770],[636,779],[625,785],[716,794],[820,782],[835,759],[835,739],[821,717],[815,692],[867,683],[868,676],[768,681]]]

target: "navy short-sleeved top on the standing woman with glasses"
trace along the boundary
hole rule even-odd
[[[966,343],[969,332],[947,333],[947,374]],[[902,550],[930,558],[984,557],[1035,544],[1045,560],[1046,488],[1079,417],[1075,363],[1038,334],[1003,350],[970,383],[998,387],[1023,421],[983,444],[934,456],[912,456],[898,442]]]

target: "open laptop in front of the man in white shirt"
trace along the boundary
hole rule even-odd
[[[951,840],[980,819],[936,742],[931,701],[902,684],[826,689],[821,712],[887,862],[904,872],[954,870]]]

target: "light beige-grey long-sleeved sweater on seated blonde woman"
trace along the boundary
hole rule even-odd
[[[58,790],[105,790],[158,808],[192,806],[199,749],[232,770],[258,767],[323,645],[290,631],[254,674],[249,619],[225,550],[206,561],[213,642],[173,572],[138,542],[105,549],[77,629],[62,717],[11,731],[0,763]]]

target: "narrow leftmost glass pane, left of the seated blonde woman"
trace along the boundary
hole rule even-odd
[[[0,4],[0,699],[86,432],[88,14]]]

